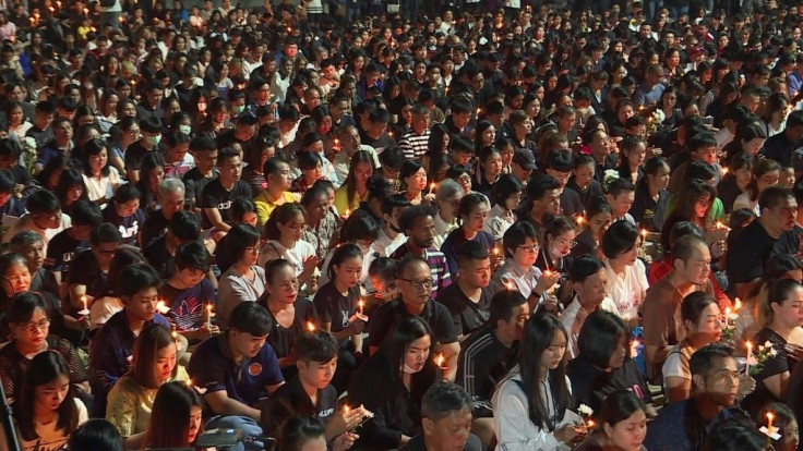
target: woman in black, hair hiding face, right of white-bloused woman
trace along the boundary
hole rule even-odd
[[[627,326],[615,314],[597,310],[588,315],[577,339],[579,353],[566,369],[575,401],[597,412],[608,394],[630,390],[650,402],[647,383],[631,359],[630,337]]]

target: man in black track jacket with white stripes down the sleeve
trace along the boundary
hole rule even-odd
[[[471,333],[460,346],[455,382],[471,398],[471,431],[486,447],[493,440],[491,395],[516,363],[518,343],[529,316],[530,307],[522,293],[500,291],[491,300],[488,325]]]

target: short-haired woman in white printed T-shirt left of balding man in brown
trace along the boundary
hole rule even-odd
[[[638,308],[647,295],[649,282],[644,263],[638,259],[640,235],[628,221],[616,221],[602,236],[602,253],[606,256],[608,297],[625,322],[638,324]]]

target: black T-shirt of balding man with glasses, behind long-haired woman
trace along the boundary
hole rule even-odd
[[[400,298],[393,300],[374,312],[368,334],[371,346],[380,346],[396,321],[409,316]],[[438,301],[429,300],[419,315],[432,330],[433,342],[448,344],[457,341],[455,324],[448,308]]]

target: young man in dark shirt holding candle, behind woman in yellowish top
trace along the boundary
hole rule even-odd
[[[161,281],[151,266],[131,265],[116,283],[122,310],[97,331],[89,349],[89,383],[95,395],[92,416],[106,415],[107,394],[131,369],[136,336],[152,324],[170,328],[167,318],[156,312]]]

